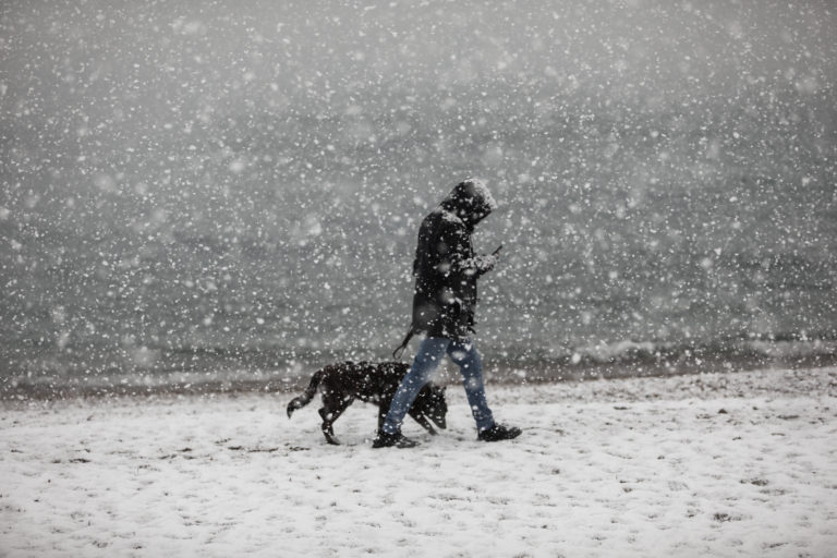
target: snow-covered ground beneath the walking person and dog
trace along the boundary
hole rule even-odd
[[[0,556],[835,556],[837,369],[488,387],[511,442],[292,395],[3,403]]]

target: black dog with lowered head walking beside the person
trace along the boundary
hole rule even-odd
[[[332,425],[355,399],[377,403],[380,429],[389,412],[389,404],[408,369],[409,366],[400,362],[344,362],[326,366],[314,374],[302,396],[288,403],[288,417],[311,402],[322,383],[323,409],[319,410],[319,416],[323,417],[323,435],[329,444],[340,444],[335,437]],[[408,413],[433,435],[436,430],[427,418],[439,428],[446,428],[445,415],[448,413],[448,404],[445,401],[445,388],[432,383],[425,385]]]

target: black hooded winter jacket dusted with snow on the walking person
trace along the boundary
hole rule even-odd
[[[413,262],[412,332],[464,340],[473,331],[476,280],[497,256],[475,255],[471,233],[495,208],[485,184],[469,179],[422,221]]]

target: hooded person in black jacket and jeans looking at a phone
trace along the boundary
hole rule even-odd
[[[499,253],[497,248],[494,254],[477,255],[471,234],[496,208],[485,183],[468,179],[457,184],[422,221],[413,262],[412,325],[393,354],[398,356],[414,333],[424,333],[425,338],[410,372],[401,380],[374,448],[415,446],[401,434],[401,424],[446,353],[462,373],[478,439],[497,441],[520,435],[519,428],[495,423],[485,397],[480,354],[470,337],[475,324],[476,281],[494,268]]]

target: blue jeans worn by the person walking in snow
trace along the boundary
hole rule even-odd
[[[488,402],[485,400],[485,385],[483,384],[483,363],[480,361],[480,354],[474,348],[473,341],[452,341],[441,337],[427,337],[418,345],[418,352],[415,360],[401,380],[401,385],[396,391],[392,404],[389,405],[389,413],[384,421],[381,429],[387,434],[396,434],[401,430],[401,424],[404,422],[407,412],[413,404],[418,391],[430,380],[430,376],[441,362],[441,359],[448,353],[450,360],[459,366],[462,373],[462,384],[465,386],[468,403],[471,405],[471,412],[476,421],[478,432],[486,430],[494,426],[494,416],[488,409]]]

